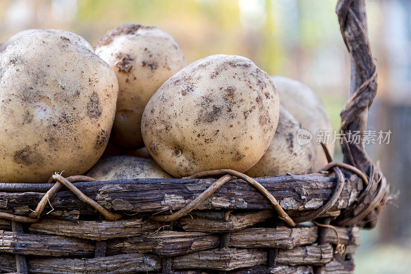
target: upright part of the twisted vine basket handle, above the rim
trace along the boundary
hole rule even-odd
[[[377,69],[367,33],[365,0],[339,0],[336,9],[341,34],[351,57],[350,99],[341,112],[341,133],[360,132],[360,142],[344,138],[344,162],[368,174],[372,166],[363,139],[367,116],[377,95]]]

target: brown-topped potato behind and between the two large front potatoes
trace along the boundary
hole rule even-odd
[[[108,31],[95,52],[113,67],[119,81],[111,140],[124,148],[142,147],[144,107],[165,80],[187,65],[184,53],[164,31],[134,24]]]

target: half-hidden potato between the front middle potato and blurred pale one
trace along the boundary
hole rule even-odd
[[[300,123],[283,106],[279,108],[277,130],[263,157],[247,171],[251,177],[279,176],[315,170],[317,157],[311,142],[300,143]]]

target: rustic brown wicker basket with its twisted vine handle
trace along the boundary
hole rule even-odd
[[[354,71],[343,133],[365,129],[377,90],[364,5],[337,6]],[[0,270],[353,272],[359,228],[375,226],[389,189],[363,145],[344,139],[342,148],[345,163],[329,159],[311,174],[101,182],[54,174],[48,184],[0,184]]]

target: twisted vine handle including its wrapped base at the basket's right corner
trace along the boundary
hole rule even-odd
[[[336,12],[341,34],[351,57],[350,99],[341,112],[341,134],[344,162],[367,174],[360,197],[340,215],[342,225],[358,224],[375,227],[381,206],[387,203],[389,184],[379,167],[368,157],[364,147],[368,111],[377,95],[377,68],[372,57],[367,32],[365,0],[338,0]],[[360,141],[348,141],[346,136],[359,133]]]

